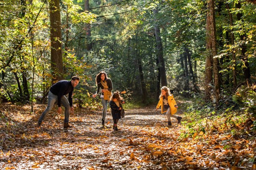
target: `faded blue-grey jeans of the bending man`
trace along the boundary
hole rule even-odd
[[[44,117],[46,116],[47,113],[49,113],[52,108],[54,103],[58,100],[58,96],[52,94],[51,91],[49,91],[48,94],[48,105],[46,107],[46,109],[44,110],[44,112],[42,113],[41,117],[39,118],[39,122],[42,123],[42,121],[44,120]],[[65,107],[65,119],[64,122],[69,122],[69,113],[70,113],[70,105],[69,105],[69,101],[66,98],[66,96],[62,96],[61,97],[61,104]]]

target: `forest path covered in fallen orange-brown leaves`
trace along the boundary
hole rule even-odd
[[[64,117],[55,110],[46,116],[42,128],[36,129],[35,122],[44,107],[35,107],[39,111],[35,115],[23,112],[27,110],[24,107],[10,114],[15,125],[1,134],[1,169],[230,168],[229,162],[237,159],[223,150],[225,136],[181,141],[179,136],[185,126],[177,125],[173,118],[173,126],[167,126],[166,115],[154,111],[155,106],[126,110],[125,118],[118,122],[118,131],[112,129],[111,113],[107,113],[102,127],[101,112],[79,108],[70,116],[72,129],[62,128]],[[183,116],[181,113],[179,110],[177,115]],[[242,151],[246,144],[241,139],[236,147]]]

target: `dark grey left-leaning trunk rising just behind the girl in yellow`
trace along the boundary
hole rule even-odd
[[[153,13],[155,15],[157,15],[158,11],[156,9],[154,9]],[[163,46],[162,46],[162,40],[161,40],[161,36],[160,36],[160,28],[157,24],[157,21],[155,21],[155,36],[156,36],[157,56],[158,56],[158,61],[160,64],[161,86],[167,86],[166,72],[165,72],[165,61],[163,59]]]

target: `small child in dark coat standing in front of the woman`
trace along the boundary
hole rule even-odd
[[[117,122],[119,119],[121,119],[121,110],[123,109],[122,104],[125,103],[125,101],[123,101],[122,97],[120,97],[118,93],[119,91],[115,91],[112,97],[110,98],[110,102],[109,102],[109,105],[111,107],[112,118],[114,121],[113,129],[115,131],[118,130]]]

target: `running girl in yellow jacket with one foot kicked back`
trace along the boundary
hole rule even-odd
[[[168,119],[168,126],[171,126],[171,117],[178,120],[178,124],[181,123],[182,117],[175,116],[177,112],[177,104],[173,98],[173,95],[170,93],[170,89],[166,86],[161,88],[161,94],[159,96],[159,102],[156,106],[156,110],[161,106],[161,113],[166,113]]]

